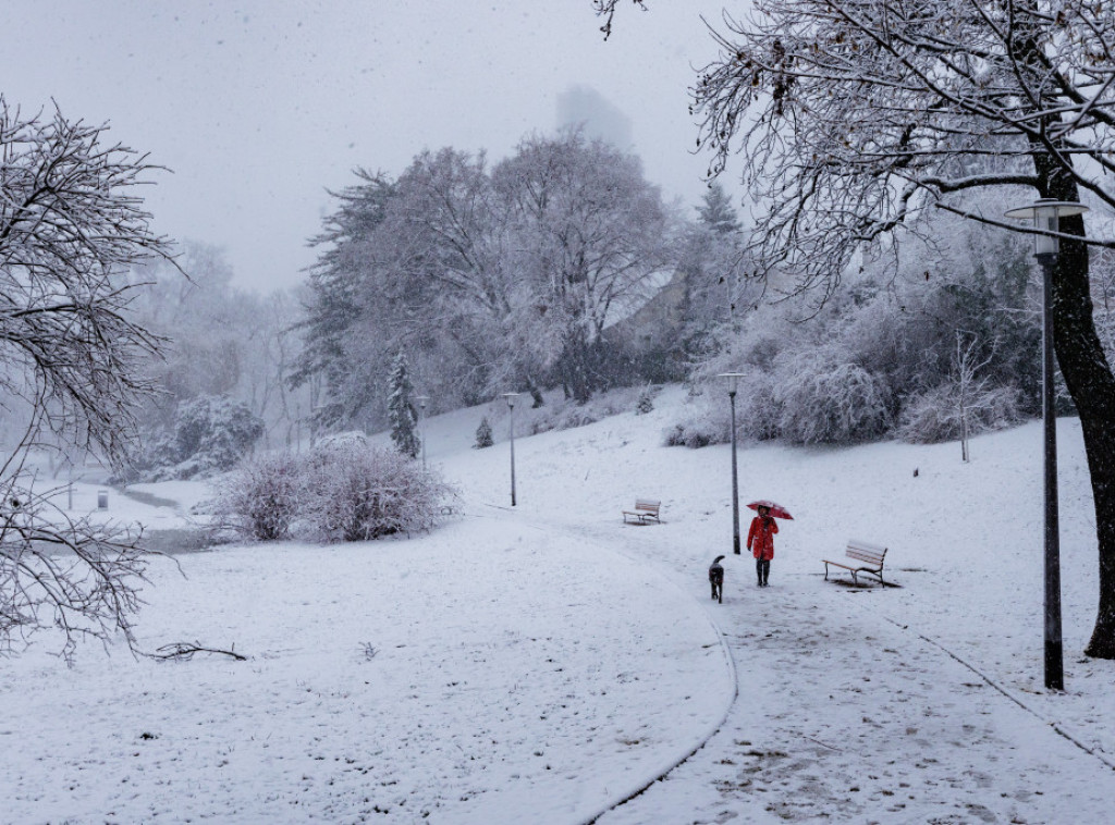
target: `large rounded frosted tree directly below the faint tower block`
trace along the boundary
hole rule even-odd
[[[604,328],[647,299],[670,260],[661,194],[637,157],[578,129],[526,138],[493,179],[514,206],[533,348],[586,401],[609,381]]]

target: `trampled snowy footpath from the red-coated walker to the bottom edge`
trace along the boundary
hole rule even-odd
[[[1058,823],[1109,804],[1115,771],[871,598],[792,579],[723,605],[728,722],[599,822]]]

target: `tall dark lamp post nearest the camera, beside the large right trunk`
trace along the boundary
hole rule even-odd
[[[1007,212],[1027,219],[1038,230],[1034,256],[1041,264],[1041,428],[1045,435],[1045,683],[1065,689],[1060,633],[1060,526],[1057,514],[1057,417],[1054,410],[1053,270],[1060,253],[1060,219],[1088,211],[1079,203],[1043,197],[1029,206]],[[1054,233],[1054,234],[1043,234]]]

